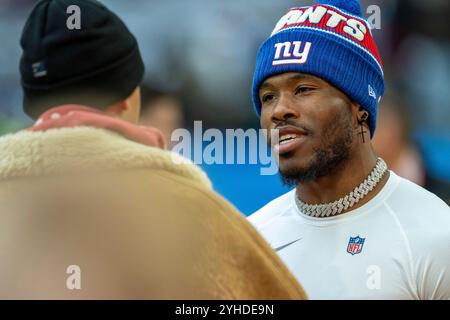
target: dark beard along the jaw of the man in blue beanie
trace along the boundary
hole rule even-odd
[[[355,139],[351,114],[342,114],[333,119],[321,137],[321,145],[314,148],[314,157],[304,168],[281,171],[284,185],[294,187],[299,183],[315,181],[318,178],[338,172],[350,158],[350,150]]]

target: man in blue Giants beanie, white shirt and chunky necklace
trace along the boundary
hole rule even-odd
[[[450,208],[376,155],[383,93],[357,0],[291,9],[259,50],[254,104],[295,189],[249,219],[311,299],[450,298]]]

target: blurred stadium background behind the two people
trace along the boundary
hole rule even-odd
[[[30,126],[18,72],[23,24],[36,0],[0,0],[0,134]],[[191,129],[259,128],[250,89],[259,45],[296,5],[288,0],[103,0],[138,38],[146,64],[142,122]],[[364,0],[387,80],[375,145],[391,168],[450,200],[450,2]],[[366,13],[368,17],[370,14]],[[0,155],[1,157],[1,155]],[[202,165],[215,189],[250,214],[288,191],[259,165]]]

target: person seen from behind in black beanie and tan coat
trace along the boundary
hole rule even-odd
[[[0,298],[305,298],[206,175],[136,125],[144,66],[115,14],[39,1],[21,45],[36,123],[0,138]]]

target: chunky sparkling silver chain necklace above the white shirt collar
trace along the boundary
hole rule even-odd
[[[375,167],[369,176],[352,192],[334,202],[325,204],[307,204],[301,201],[296,193],[295,202],[300,211],[310,217],[329,217],[341,213],[364,198],[383,178],[387,165],[383,159],[378,158]]]

